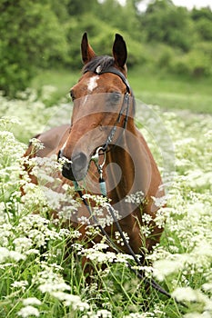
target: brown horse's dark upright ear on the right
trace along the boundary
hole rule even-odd
[[[124,67],[126,64],[127,50],[126,42],[121,35],[116,34],[113,45],[113,55],[115,58],[115,64],[119,67]]]

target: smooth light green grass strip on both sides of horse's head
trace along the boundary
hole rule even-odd
[[[66,97],[81,73],[72,70],[47,70],[37,75],[32,83],[39,90],[53,85],[56,92],[49,102],[54,104]],[[128,79],[136,99],[145,104],[157,104],[163,109],[189,109],[196,113],[212,114],[212,77],[189,78],[165,73],[149,73],[144,68],[130,69]]]

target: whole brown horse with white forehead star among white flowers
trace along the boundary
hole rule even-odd
[[[134,123],[135,98],[126,80],[126,43],[116,35],[113,56],[97,56],[85,34],[81,50],[85,66],[82,77],[70,90],[74,101],[71,125],[38,135],[45,149],[34,155],[57,154],[63,161],[63,183],[77,182],[83,193],[103,194],[100,176],[133,252],[144,256],[159,242],[163,231],[154,222],[158,207],[153,198],[162,197],[164,192],[153,155]],[[31,150],[32,146],[25,155]],[[143,197],[135,201],[134,194],[141,193]],[[100,218],[107,215],[108,209],[104,208]],[[70,224],[79,228],[84,239],[88,222],[80,224],[82,216],[92,223],[83,203]],[[106,234],[116,243],[116,224],[105,225]],[[145,226],[148,234],[143,231]],[[119,247],[128,253],[126,246]]]

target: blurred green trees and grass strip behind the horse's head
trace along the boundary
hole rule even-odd
[[[27,87],[39,92],[53,85],[47,106],[56,104],[80,76],[84,32],[97,55],[111,55],[119,33],[137,98],[165,109],[212,113],[212,9],[176,3],[1,0],[0,90],[15,98]]]

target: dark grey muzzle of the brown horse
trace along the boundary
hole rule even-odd
[[[62,161],[62,174],[66,179],[80,181],[85,178],[89,164],[86,154],[75,154],[71,160],[69,160],[63,155],[63,151],[60,150],[57,160]]]

